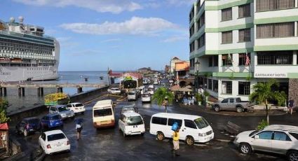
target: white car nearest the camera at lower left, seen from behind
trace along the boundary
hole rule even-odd
[[[39,137],[39,146],[46,154],[70,151],[69,139],[61,130],[43,132]]]

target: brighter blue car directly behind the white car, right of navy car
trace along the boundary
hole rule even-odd
[[[58,113],[48,114],[41,118],[41,127],[45,128],[52,128],[52,127],[60,127],[63,126],[63,121],[61,116]]]

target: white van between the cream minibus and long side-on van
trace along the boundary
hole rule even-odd
[[[145,125],[142,116],[139,113],[122,113],[118,121],[119,130],[123,132],[123,136],[145,133]]]

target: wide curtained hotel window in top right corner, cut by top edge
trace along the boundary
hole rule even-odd
[[[294,8],[295,0],[257,0],[257,12]]]

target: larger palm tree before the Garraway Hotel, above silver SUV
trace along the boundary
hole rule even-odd
[[[280,102],[285,102],[285,95],[278,91],[273,91],[272,87],[279,87],[279,82],[276,79],[269,79],[268,82],[265,83],[257,83],[252,87],[254,92],[250,94],[250,100],[256,100],[259,104],[265,103],[266,106],[266,118],[267,123],[269,124],[269,113],[268,113],[268,101],[269,100],[277,100]],[[280,100],[281,98],[281,100]]]

